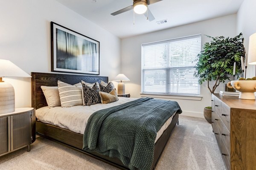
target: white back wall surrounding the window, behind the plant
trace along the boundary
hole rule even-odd
[[[234,37],[236,35],[236,14],[122,39],[121,72],[131,80],[130,82],[125,82],[126,93],[130,93],[131,97],[141,96],[141,44],[195,34],[202,34],[202,45],[210,40],[204,34],[212,37],[221,35]],[[222,89],[223,84],[216,89],[215,93]],[[203,117],[204,107],[211,105],[211,94],[207,88],[207,83],[201,85],[201,96],[203,96],[201,101],[172,100],[180,104],[183,115]]]

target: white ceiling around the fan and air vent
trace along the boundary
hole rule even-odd
[[[143,14],[135,14],[134,25],[133,10],[116,16],[111,15],[119,9],[131,6],[133,0],[57,1],[120,38],[236,14],[243,2],[243,0],[162,0],[148,6],[155,20],[149,22]],[[168,23],[160,25],[156,23],[165,19]]]

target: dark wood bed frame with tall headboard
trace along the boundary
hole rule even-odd
[[[41,90],[41,85],[45,86],[58,86],[58,80],[66,82],[68,84],[76,84],[83,80],[84,82],[108,82],[108,77],[100,76],[87,76],[87,75],[73,75],[73,74],[53,74],[53,73],[31,73],[32,76],[32,107],[35,109],[42,108],[47,106],[46,99],[44,97],[43,91]],[[160,156],[165,148],[166,143],[168,142],[169,137],[172,134],[172,131],[178,123],[179,115],[175,114],[172,119],[171,124],[163,132],[162,136],[157,140],[154,147],[154,161],[151,165],[151,170],[154,170],[157,166],[157,163],[160,159]],[[103,156],[99,153],[86,152],[82,150],[83,147],[83,135],[79,133],[72,132],[70,130],[36,121],[36,134],[52,141],[64,144],[67,147],[71,147],[75,150],[78,150],[82,153],[85,153],[88,156],[104,161],[112,166],[118,167],[122,170],[128,170],[128,167],[125,167],[122,162],[117,158],[110,158],[108,156]]]

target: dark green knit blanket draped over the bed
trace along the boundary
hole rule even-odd
[[[83,149],[116,157],[131,170],[149,170],[158,130],[175,112],[177,102],[140,98],[93,113],[84,130]]]

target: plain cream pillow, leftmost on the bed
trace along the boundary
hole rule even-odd
[[[58,92],[58,87],[52,86],[41,86],[41,89],[44,92],[44,96],[49,108],[61,106],[61,100]]]

